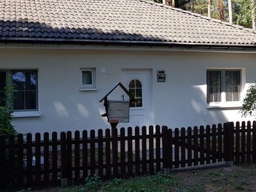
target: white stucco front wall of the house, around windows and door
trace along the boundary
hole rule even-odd
[[[120,81],[122,68],[150,69],[152,125],[175,128],[250,119],[241,118],[236,108],[206,108],[206,69],[243,68],[247,86],[256,80],[256,54],[0,49],[0,58],[0,69],[38,69],[41,116],[12,120],[23,133],[108,128],[99,99]],[[81,67],[96,68],[97,91],[79,91]],[[101,67],[110,74],[101,74]],[[166,71],[165,83],[157,83],[157,69]],[[111,99],[120,99],[116,95]]]

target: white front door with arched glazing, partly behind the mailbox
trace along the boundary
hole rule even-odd
[[[130,104],[129,127],[142,127],[148,124],[148,77],[149,72],[146,70],[124,70],[122,73],[122,83],[138,101]],[[125,95],[125,99],[129,98]]]

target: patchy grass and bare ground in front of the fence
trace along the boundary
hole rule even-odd
[[[148,177],[101,182],[92,177],[83,186],[44,191],[256,191],[256,165],[230,166],[191,172],[157,173]]]

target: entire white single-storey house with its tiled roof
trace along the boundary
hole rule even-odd
[[[12,76],[23,133],[108,128],[99,99],[118,81],[139,101],[119,127],[249,120],[239,109],[255,53],[252,29],[150,1],[0,4],[0,96]]]

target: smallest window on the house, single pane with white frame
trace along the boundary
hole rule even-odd
[[[81,68],[82,88],[96,88],[95,68]]]

